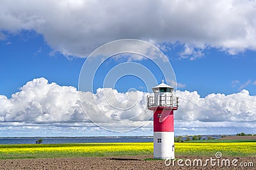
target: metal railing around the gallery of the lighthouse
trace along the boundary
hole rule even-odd
[[[179,107],[179,97],[173,96],[147,96],[147,107],[165,106],[178,108]]]

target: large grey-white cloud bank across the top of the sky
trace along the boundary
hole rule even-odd
[[[181,57],[205,48],[230,54],[256,49],[256,1],[52,1],[0,2],[0,39],[35,31],[53,50],[86,57],[109,41],[135,38],[184,45]]]

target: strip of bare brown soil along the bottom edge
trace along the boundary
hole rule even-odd
[[[80,157],[80,158],[52,158],[52,159],[6,159],[0,160],[0,169],[256,169],[256,157],[222,157],[217,159],[216,165],[193,166],[193,160],[201,159],[202,165],[207,156],[177,156],[182,159],[184,166],[179,166],[177,160],[175,165],[166,166],[164,160],[152,160],[152,155],[123,156],[123,157]],[[185,161],[190,159],[192,166],[186,166]],[[212,157],[212,159],[216,159]],[[229,159],[230,166],[221,166],[222,159]],[[237,166],[232,165],[232,160],[237,159]],[[219,166],[218,166],[218,160]],[[248,162],[253,162],[253,167],[242,167]],[[246,162],[246,163],[244,163]],[[169,163],[169,162],[166,162]],[[187,162],[189,164],[189,162]],[[252,166],[252,165],[251,165]]]

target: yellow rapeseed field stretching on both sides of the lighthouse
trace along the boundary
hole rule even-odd
[[[0,145],[0,158],[153,155],[153,143]],[[256,143],[175,143],[175,155],[256,156]]]

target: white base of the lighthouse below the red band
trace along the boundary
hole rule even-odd
[[[154,132],[154,159],[175,159],[174,132]]]

